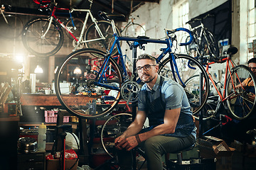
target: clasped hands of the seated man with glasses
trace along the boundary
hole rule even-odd
[[[131,137],[127,137],[126,139],[122,139],[122,135],[117,137],[114,140],[115,146],[117,147],[117,149],[127,149],[127,151],[130,151],[132,149],[134,149],[134,147],[137,147],[138,142],[136,140],[135,136],[131,136]]]

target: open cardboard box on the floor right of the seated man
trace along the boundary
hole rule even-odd
[[[198,142],[199,152],[203,158],[231,157],[235,151],[217,137],[206,136],[204,139],[198,139]]]

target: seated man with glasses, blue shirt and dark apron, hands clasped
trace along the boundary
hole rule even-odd
[[[138,98],[138,112],[133,123],[114,142],[121,169],[132,169],[132,153],[139,145],[144,149],[148,169],[161,170],[161,157],[178,152],[196,142],[196,126],[191,106],[182,86],[157,74],[154,57],[138,57],[137,73],[144,81]],[[146,118],[149,128],[142,130]]]

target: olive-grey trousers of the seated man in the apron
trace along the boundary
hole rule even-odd
[[[150,137],[148,140],[140,143],[138,147],[142,147],[146,154],[147,168],[149,170],[162,170],[162,156],[166,153],[178,152],[186,147],[190,147],[196,142],[193,135],[188,137],[169,137],[157,135]],[[120,170],[132,170],[133,157],[132,152],[126,149],[117,151]]]

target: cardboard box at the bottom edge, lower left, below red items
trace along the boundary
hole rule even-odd
[[[65,160],[65,170],[70,169],[73,164],[75,164],[77,159],[67,159]],[[46,160],[46,170],[60,170],[60,160],[57,159],[51,159]],[[78,169],[78,162],[76,162],[75,166],[71,170],[77,170]]]

